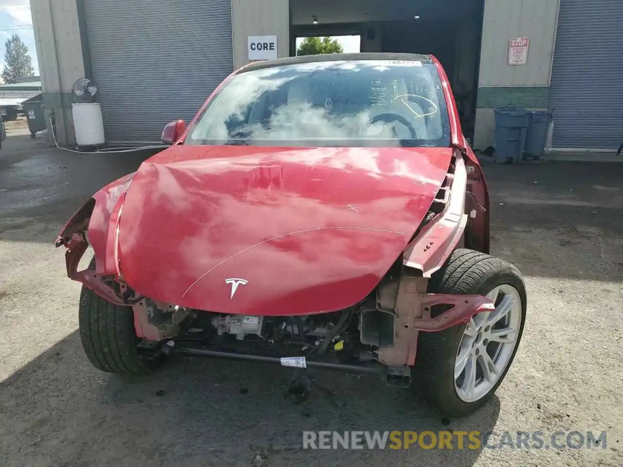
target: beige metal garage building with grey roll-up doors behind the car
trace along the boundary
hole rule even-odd
[[[250,36],[275,37],[287,57],[296,37],[315,33],[361,34],[362,51],[436,47],[466,96],[464,127],[477,148],[493,144],[493,109],[508,104],[554,108],[554,148],[611,150],[623,138],[622,0],[42,0],[32,16],[44,99],[64,144],[75,141],[78,78],[99,83],[107,143],[152,143],[249,62]],[[429,30],[447,40],[427,44]],[[510,65],[518,37],[530,40],[528,59]]]

